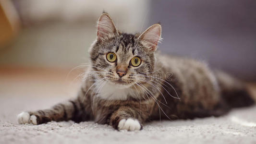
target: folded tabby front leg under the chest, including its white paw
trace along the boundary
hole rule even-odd
[[[142,130],[142,123],[148,118],[140,108],[120,107],[110,118],[110,125],[117,130]]]

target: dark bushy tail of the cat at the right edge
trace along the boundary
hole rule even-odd
[[[255,99],[245,84],[225,72],[215,72],[224,101],[232,108],[252,106]]]

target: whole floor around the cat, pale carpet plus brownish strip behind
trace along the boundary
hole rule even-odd
[[[94,122],[19,125],[24,110],[49,108],[75,96],[77,72],[0,68],[0,144],[256,144],[256,107],[219,118],[154,121],[142,131],[115,131]],[[256,85],[249,84],[256,96]]]

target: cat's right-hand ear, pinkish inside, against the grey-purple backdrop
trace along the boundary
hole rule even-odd
[[[140,42],[150,51],[155,51],[161,40],[161,25],[153,24],[139,36]]]

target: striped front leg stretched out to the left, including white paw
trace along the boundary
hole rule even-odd
[[[80,122],[86,119],[88,119],[88,114],[85,112],[85,105],[78,98],[57,104],[49,109],[27,111],[18,115],[18,122],[20,124],[41,124],[52,120],[73,120]]]

